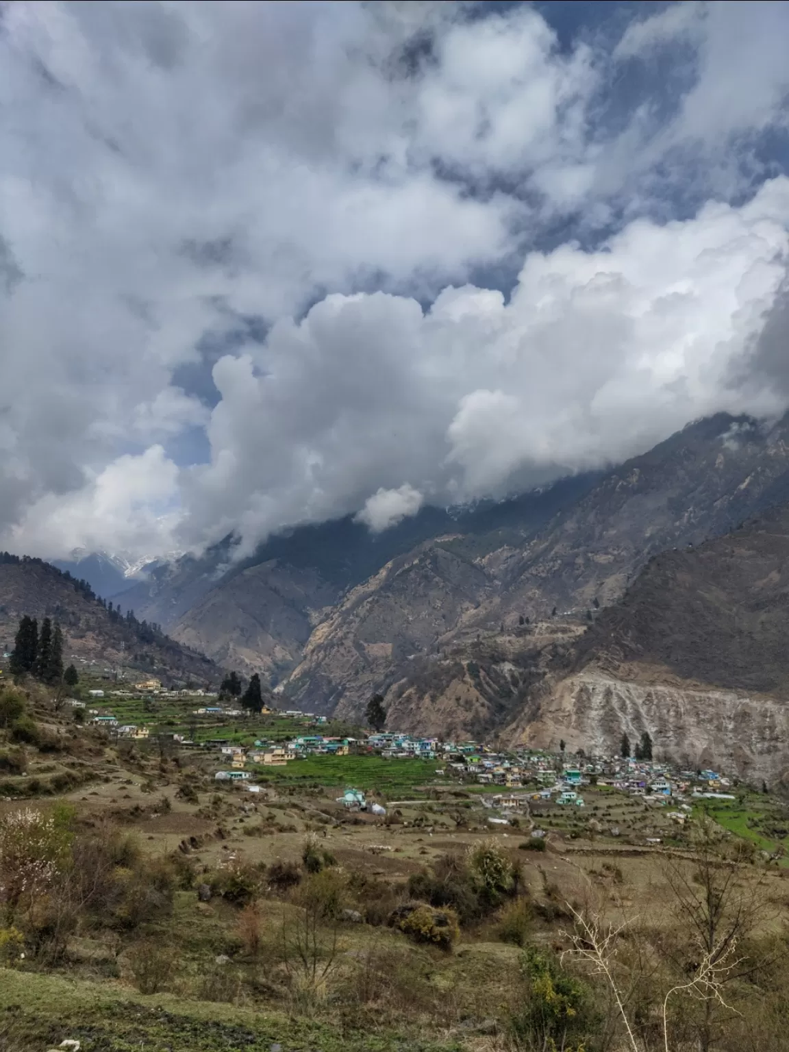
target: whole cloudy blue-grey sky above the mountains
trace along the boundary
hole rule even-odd
[[[789,405],[789,3],[0,4],[0,547],[246,555]]]

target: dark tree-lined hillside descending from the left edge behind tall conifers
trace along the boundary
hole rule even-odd
[[[156,671],[168,680],[215,684],[220,669],[203,654],[161,634],[147,624],[110,614],[84,582],[38,559],[0,553],[0,640],[14,646],[19,619],[56,619],[65,635],[64,658],[109,665],[122,663]]]

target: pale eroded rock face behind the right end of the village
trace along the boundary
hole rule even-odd
[[[508,729],[513,744],[615,754],[649,731],[655,758],[696,769],[721,766],[749,782],[789,777],[789,705],[780,699],[691,686],[668,669],[628,666],[619,675],[600,668],[548,688],[533,719]]]

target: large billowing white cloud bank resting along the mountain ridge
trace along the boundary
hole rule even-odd
[[[362,506],[383,528],[403,479],[439,502],[497,495],[626,458],[720,409],[782,408],[768,378],[730,378],[783,287],[788,226],[782,178],[740,208],[633,222],[596,251],[532,252],[509,303],[472,286],[427,312],[338,295],[278,323],[215,367],[222,400],[211,463],[186,483],[189,541],[235,524],[247,551],[287,523]]]

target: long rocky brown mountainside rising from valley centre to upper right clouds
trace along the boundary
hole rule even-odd
[[[700,421],[568,501],[535,535],[522,531],[520,543],[480,545],[456,532],[392,562],[316,629],[286,690],[359,715],[370,691],[402,680],[404,648],[428,653],[524,616],[545,619],[554,607],[583,618],[595,600],[621,595],[652,553],[723,533],[788,497],[789,418],[770,427],[726,414]],[[451,575],[401,578],[402,565],[423,566],[427,552],[434,563],[463,561],[457,592]],[[420,588],[410,591],[411,581]],[[426,602],[432,615],[414,613]]]

